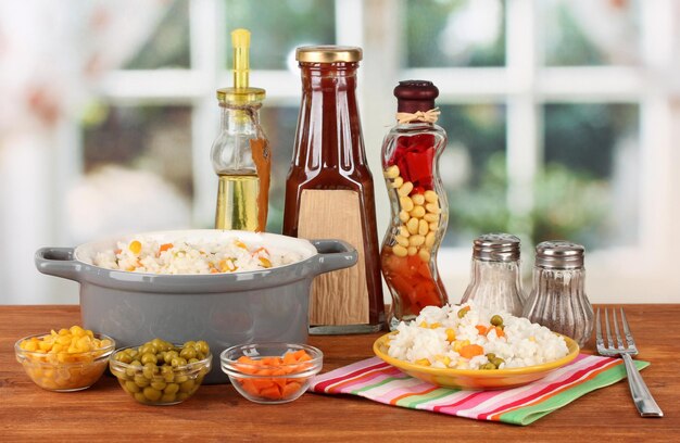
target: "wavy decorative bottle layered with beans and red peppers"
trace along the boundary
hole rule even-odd
[[[437,251],[446,230],[449,205],[438,161],[446,132],[435,123],[439,90],[431,81],[400,81],[398,124],[382,143],[382,169],[391,221],[382,241],[382,275],[392,295],[390,328],[414,319],[425,306],[443,306],[446,291]]]

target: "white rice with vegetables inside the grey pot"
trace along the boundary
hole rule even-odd
[[[174,241],[152,238],[117,242],[117,249],[98,252],[93,264],[108,269],[149,274],[224,274],[261,270],[300,261],[300,254],[275,253],[238,238],[221,242]]]

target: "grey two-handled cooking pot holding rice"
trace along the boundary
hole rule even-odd
[[[158,241],[221,241],[238,237],[245,243],[292,251],[302,260],[266,270],[212,275],[154,275],[95,266],[100,251],[135,237]],[[319,274],[350,267],[356,251],[340,240],[302,239],[245,231],[184,230],[118,237],[73,248],[42,248],[36,266],[42,274],[80,283],[83,326],[115,339],[119,347],[153,338],[180,343],[205,340],[213,356],[239,343],[307,340],[310,287]],[[227,376],[213,362],[207,383]]]

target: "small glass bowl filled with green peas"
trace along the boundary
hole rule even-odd
[[[210,372],[212,359],[204,341],[176,344],[153,339],[117,350],[109,358],[109,368],[137,402],[176,405],[198,391]]]

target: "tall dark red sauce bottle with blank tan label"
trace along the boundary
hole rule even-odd
[[[351,268],[316,277],[310,333],[375,332],[385,324],[373,176],[356,105],[360,48],[303,47],[302,103],[286,180],[284,235],[344,240]]]

